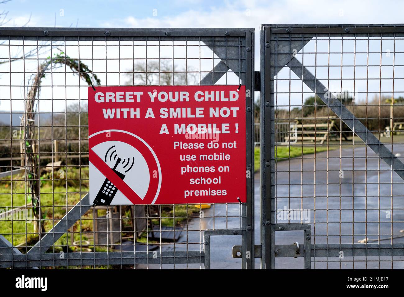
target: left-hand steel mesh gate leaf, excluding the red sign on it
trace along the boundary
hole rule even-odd
[[[254,29],[4,27],[0,40],[0,268],[210,268],[231,258],[210,253],[215,235],[253,267]],[[191,84],[246,85],[247,203],[92,207],[86,88]]]

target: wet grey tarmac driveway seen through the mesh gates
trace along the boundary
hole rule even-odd
[[[391,149],[391,145],[389,146]],[[393,152],[404,156],[404,145],[394,145]],[[404,160],[404,158],[400,158]],[[404,242],[404,183],[383,160],[364,145],[355,150],[343,148],[314,155],[304,155],[276,163],[276,210],[305,209],[314,244],[355,244],[368,238],[369,243]],[[314,198],[315,197],[315,198]],[[240,227],[240,206],[215,204],[203,209],[204,218],[191,219],[188,232],[183,232],[176,244],[166,244],[163,250],[188,251],[201,248],[203,231]],[[300,223],[277,213],[278,223]],[[280,215],[278,215],[280,214]],[[255,175],[255,244],[260,242],[260,181]],[[391,239],[393,237],[398,237]],[[304,242],[303,232],[276,232],[276,244]],[[210,243],[212,269],[240,269],[241,260],[233,259],[231,249],[241,244],[241,236],[212,236]],[[259,258],[255,268],[260,268]],[[316,269],[378,269],[404,268],[404,257],[323,257],[312,258]],[[276,268],[303,269],[303,258],[276,258]],[[149,268],[173,268],[174,265],[149,265]],[[175,264],[175,268],[186,268]],[[200,268],[188,264],[188,268]],[[203,266],[202,266],[203,267]],[[145,268],[138,265],[138,268]]]

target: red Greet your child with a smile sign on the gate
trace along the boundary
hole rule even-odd
[[[88,88],[90,202],[246,202],[245,86]]]

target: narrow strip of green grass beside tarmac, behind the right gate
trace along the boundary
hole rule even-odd
[[[329,146],[328,150],[335,150],[336,147]],[[276,146],[275,147],[275,158],[276,161],[287,160],[289,158],[300,157],[302,154],[314,154],[314,152],[325,152],[327,150],[327,146],[314,146],[314,145],[290,145],[290,146]],[[260,168],[260,160],[259,160],[259,152],[260,148],[255,147],[254,150],[254,169],[255,172],[259,171]]]

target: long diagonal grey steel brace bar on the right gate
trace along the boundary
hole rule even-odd
[[[404,179],[404,164],[341,101],[332,95],[298,59],[295,57],[291,59],[288,66],[379,158]]]

